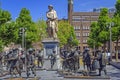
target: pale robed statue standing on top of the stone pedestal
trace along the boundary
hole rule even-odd
[[[57,13],[53,9],[52,5],[48,6],[49,11],[46,13],[47,16],[47,32],[49,38],[57,38],[57,31],[58,31],[58,18]]]

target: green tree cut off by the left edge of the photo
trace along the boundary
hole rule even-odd
[[[11,21],[11,14],[0,9],[0,50],[15,40],[14,22]],[[12,37],[11,37],[12,36]]]

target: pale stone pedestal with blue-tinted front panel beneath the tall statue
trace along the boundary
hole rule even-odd
[[[42,41],[43,46],[44,46],[44,64],[43,68],[45,69],[50,69],[51,64],[50,64],[50,59],[48,58],[49,55],[53,54],[53,50],[56,52],[56,63],[53,67],[53,69],[58,69],[58,62],[59,62],[59,40],[58,39],[52,39],[52,38],[46,38]]]

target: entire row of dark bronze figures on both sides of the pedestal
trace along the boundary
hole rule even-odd
[[[105,51],[97,50],[94,56],[90,55],[89,49],[86,48],[82,53],[78,49],[74,50],[60,50],[60,60],[62,64],[62,70],[70,71],[76,73],[79,71],[80,67],[83,66],[84,70],[90,75],[91,71],[98,70],[99,76],[101,76],[101,71],[106,71],[106,53]],[[83,65],[80,65],[80,56],[82,57]],[[56,52],[49,56],[51,69],[53,69],[56,63]],[[37,64],[35,63],[37,60]],[[43,52],[42,50],[28,49],[27,51],[19,50],[14,48],[8,52],[0,54],[0,65],[4,65],[9,74],[13,75],[19,74],[21,76],[22,72],[26,71],[26,76],[29,77],[30,74],[36,76],[36,68],[42,68],[44,64]],[[31,73],[32,72],[32,73]]]

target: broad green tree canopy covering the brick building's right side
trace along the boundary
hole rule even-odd
[[[109,40],[109,26],[111,19],[107,8],[102,8],[98,22],[91,24],[90,36],[88,38],[88,45],[93,48],[106,44]]]

